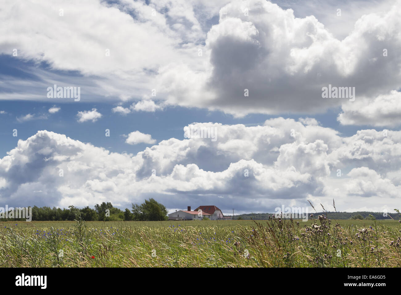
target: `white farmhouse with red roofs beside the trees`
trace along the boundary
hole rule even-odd
[[[231,220],[231,216],[224,216],[216,206],[199,206],[194,211],[191,211],[191,206],[188,210],[179,210],[168,214],[168,220],[203,220],[204,217],[210,220]]]

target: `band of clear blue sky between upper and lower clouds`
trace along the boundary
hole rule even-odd
[[[32,69],[31,61],[24,61],[10,57],[9,55],[0,55],[0,75],[7,76],[7,79],[14,79],[26,85],[34,84],[40,78],[30,73]],[[80,78],[77,72],[73,71],[55,71],[48,69],[48,65],[37,65],[38,69],[48,70],[50,73],[57,75],[65,75],[67,77]],[[50,85],[52,86],[52,85]],[[30,87],[24,86],[22,92],[29,93]],[[7,86],[2,85],[0,92],[7,92]],[[43,88],[43,97],[46,98],[47,89]],[[92,98],[91,98],[92,99]],[[277,118],[283,116],[285,118],[293,118],[298,120],[300,117],[308,117],[311,114],[249,114],[244,118],[235,118],[231,114],[225,114],[221,111],[209,111],[200,108],[183,108],[180,106],[169,106],[164,110],[156,112],[135,112],[128,116],[120,116],[111,111],[117,104],[111,102],[103,102],[102,97],[98,97],[99,102],[85,102],[85,94],[81,95],[79,102],[73,102],[69,98],[52,98],[49,101],[36,100],[2,100],[0,111],[7,114],[0,116],[1,134],[8,136],[7,140],[0,143],[0,153],[2,157],[7,151],[14,148],[18,139],[25,140],[35,134],[38,130],[48,130],[80,140],[82,142],[90,142],[95,146],[102,146],[109,151],[118,153],[138,153],[143,151],[146,146],[151,144],[138,144],[131,146],[126,144],[123,134],[128,134],[134,130],[140,130],[146,134],[152,134],[152,138],[158,142],[169,138],[184,138],[183,127],[193,122],[220,122],[223,124],[245,124],[258,125],[269,118]],[[52,107],[61,108],[55,114],[49,114],[48,110]],[[83,110],[91,110],[96,108],[103,117],[96,122],[77,122],[77,113]],[[334,128],[344,136],[355,134],[360,128],[369,128],[369,126],[343,126],[337,121],[339,109],[330,109],[323,114],[314,114],[313,117],[318,120],[322,126]],[[17,118],[21,118],[26,114],[34,114],[36,118],[26,122],[18,122]],[[43,117],[43,118],[41,118]],[[18,130],[18,136],[12,137],[12,130]],[[110,137],[104,136],[105,129],[110,129]]]

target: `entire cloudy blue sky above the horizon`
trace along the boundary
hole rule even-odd
[[[401,0],[5,0],[0,19],[2,207],[399,208]]]

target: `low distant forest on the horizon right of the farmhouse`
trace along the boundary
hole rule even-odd
[[[243,219],[243,220],[250,220],[251,218],[254,220],[266,220],[269,219],[269,216],[273,216],[274,213],[257,213],[257,214],[241,214],[241,215],[236,215],[234,219]],[[310,214],[313,214],[314,216],[318,215],[327,215],[328,218],[330,219],[370,219],[369,215],[373,215],[376,219],[391,219],[394,218],[394,220],[399,220],[399,214],[397,212],[389,212],[387,213],[387,216],[383,216],[383,212],[363,212],[363,211],[358,211],[358,212],[309,212],[308,216]],[[284,212],[283,212],[284,216]],[[391,217],[390,217],[391,216]],[[308,217],[309,218],[309,217]]]

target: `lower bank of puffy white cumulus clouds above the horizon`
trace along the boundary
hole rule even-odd
[[[168,208],[219,203],[267,212],[334,197],[342,210],[358,209],[361,198],[366,209],[380,210],[393,206],[399,192],[399,131],[342,137],[311,118],[192,126],[215,128],[217,140],[170,138],[131,155],[38,131],[0,159],[1,201],[129,207],[153,196]]]

